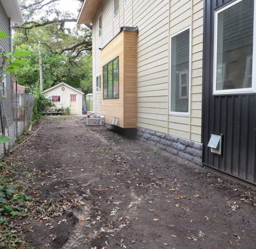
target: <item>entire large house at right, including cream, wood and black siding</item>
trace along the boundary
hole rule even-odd
[[[94,112],[255,184],[255,9],[255,0],[85,0],[77,23],[93,25]]]

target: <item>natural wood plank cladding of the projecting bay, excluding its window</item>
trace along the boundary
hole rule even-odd
[[[137,32],[122,31],[101,51],[101,75],[105,64],[119,57],[119,98],[103,99],[101,112],[105,121],[119,118],[122,128],[137,127]],[[102,77],[103,80],[103,77]]]

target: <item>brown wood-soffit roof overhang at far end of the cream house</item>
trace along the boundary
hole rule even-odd
[[[84,0],[76,23],[92,23],[93,17],[101,6],[101,3],[102,0]]]

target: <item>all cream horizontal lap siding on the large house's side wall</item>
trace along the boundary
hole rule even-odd
[[[102,45],[122,26],[139,28],[137,126],[201,142],[203,1],[131,0],[124,6],[120,0],[119,16],[114,20],[113,1],[106,0],[102,16]],[[190,116],[182,117],[168,114],[169,35],[188,26],[191,27]],[[97,66],[101,64],[99,61]]]

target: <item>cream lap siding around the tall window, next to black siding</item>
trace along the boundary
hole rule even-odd
[[[170,34],[188,26],[192,32],[190,116],[170,115],[169,134],[201,142],[203,1],[170,1]]]

